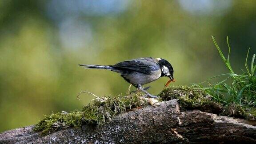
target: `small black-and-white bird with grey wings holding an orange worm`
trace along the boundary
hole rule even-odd
[[[172,81],[175,81],[172,65],[167,60],[161,58],[143,57],[122,61],[114,65],[79,65],[85,68],[108,69],[120,73],[124,80],[151,98],[156,98],[156,96],[149,94],[143,89],[142,85],[157,80],[162,76],[168,76]]]

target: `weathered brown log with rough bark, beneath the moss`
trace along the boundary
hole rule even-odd
[[[177,100],[124,112],[93,127],[65,128],[42,136],[33,126],[0,133],[1,144],[13,143],[256,143],[256,122],[181,110]]]

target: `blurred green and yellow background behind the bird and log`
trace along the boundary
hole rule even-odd
[[[129,84],[119,74],[78,64],[115,64],[144,56],[174,67],[190,85],[226,72],[215,36],[240,72],[256,52],[256,0],[0,0],[0,132],[44,115],[81,109],[93,96]],[[159,93],[168,78],[147,84]]]

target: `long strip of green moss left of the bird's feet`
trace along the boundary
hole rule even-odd
[[[95,99],[92,104],[84,106],[82,111],[58,112],[45,116],[34,127],[34,131],[42,131],[43,135],[55,132],[61,128],[80,127],[82,124],[101,125],[113,116],[123,113],[126,109],[142,107],[148,104],[141,99],[141,93],[126,97],[103,97]]]

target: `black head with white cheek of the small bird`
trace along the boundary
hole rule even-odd
[[[168,76],[172,81],[174,81],[172,65],[167,60],[161,58],[157,58],[156,60],[158,61],[162,71],[161,76]]]

